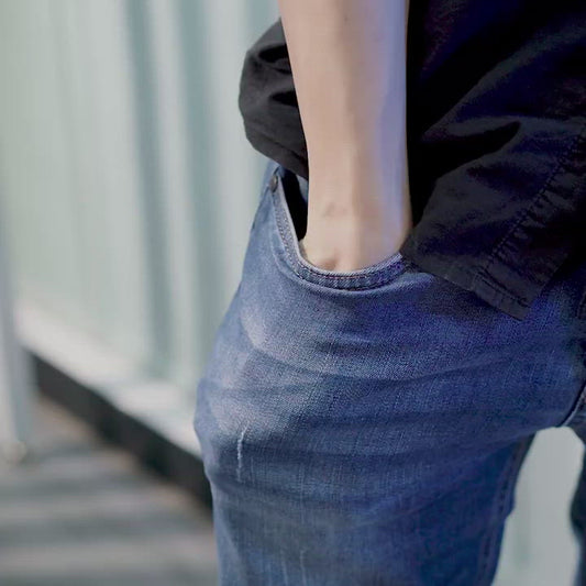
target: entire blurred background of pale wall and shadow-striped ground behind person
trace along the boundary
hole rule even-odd
[[[276,0],[0,0],[0,584],[213,585],[195,388],[266,158]],[[497,585],[570,586],[583,447],[541,432]]]

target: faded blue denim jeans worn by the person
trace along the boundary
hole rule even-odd
[[[299,179],[268,161],[198,383],[220,583],[488,585],[534,434],[586,439],[586,263],[524,321],[400,252],[323,270],[299,252]]]

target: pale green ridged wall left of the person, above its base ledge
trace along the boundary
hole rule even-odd
[[[264,157],[237,111],[276,3],[2,0],[0,189],[19,295],[189,385]]]

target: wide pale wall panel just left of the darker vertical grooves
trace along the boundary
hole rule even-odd
[[[145,287],[148,233],[123,3],[68,0],[52,8],[56,37],[67,41],[59,63],[77,179],[71,199],[82,243],[81,277],[92,310],[88,323],[113,347],[145,360],[152,338]]]

